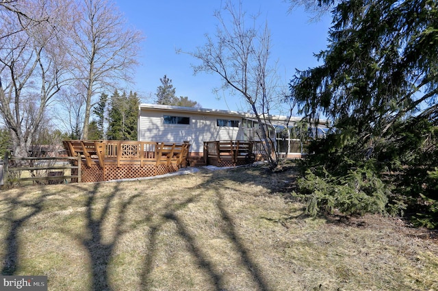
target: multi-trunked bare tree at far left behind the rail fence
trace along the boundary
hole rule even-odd
[[[68,1],[23,0],[2,10],[0,113],[16,156],[28,155],[44,110],[68,80],[62,37],[68,31],[69,5]]]

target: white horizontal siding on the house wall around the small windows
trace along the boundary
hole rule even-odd
[[[164,115],[190,117],[190,125],[166,125]],[[218,127],[216,120],[240,121],[240,127]],[[203,142],[211,140],[242,140],[242,118],[238,116],[199,112],[171,112],[142,109],[139,116],[138,140],[151,142],[183,142],[188,140],[190,151],[202,152]]]

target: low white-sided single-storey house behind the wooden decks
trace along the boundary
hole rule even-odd
[[[302,143],[296,137],[299,117],[269,116],[270,138],[284,157],[301,157]],[[259,123],[254,114],[196,107],[142,103],[138,114],[138,141],[188,142],[190,156],[202,156],[204,142],[215,140],[255,141]],[[318,136],[327,128],[320,121]]]

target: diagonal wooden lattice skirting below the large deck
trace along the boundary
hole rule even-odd
[[[90,167],[85,163],[81,164],[81,181],[83,182],[99,182],[99,181],[112,181],[118,179],[133,179],[140,177],[153,177],[157,175],[164,175],[170,172],[178,170],[178,166],[175,164],[161,164],[144,165],[139,164],[125,164],[117,167],[115,164],[105,165],[105,168],[101,168],[99,163],[93,163]]]

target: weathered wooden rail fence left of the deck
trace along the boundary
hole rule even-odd
[[[27,165],[10,165],[12,162],[28,162]],[[53,165],[60,161],[69,161],[70,163],[62,166]],[[17,163],[16,163],[17,164]],[[19,163],[18,163],[19,164]],[[37,166],[35,166],[37,164]],[[72,165],[73,164],[73,165]],[[62,175],[54,173],[51,170],[60,170]],[[70,175],[65,175],[65,170],[70,170]],[[8,157],[8,153],[3,160],[3,188],[8,189],[9,182],[11,180],[10,173],[29,171],[29,177],[14,177],[14,181],[54,181],[54,180],[66,180],[77,179],[77,182],[81,182],[81,157]],[[75,175],[73,175],[73,173]],[[36,173],[44,173],[46,175],[36,175]],[[55,174],[55,175],[53,175]]]

